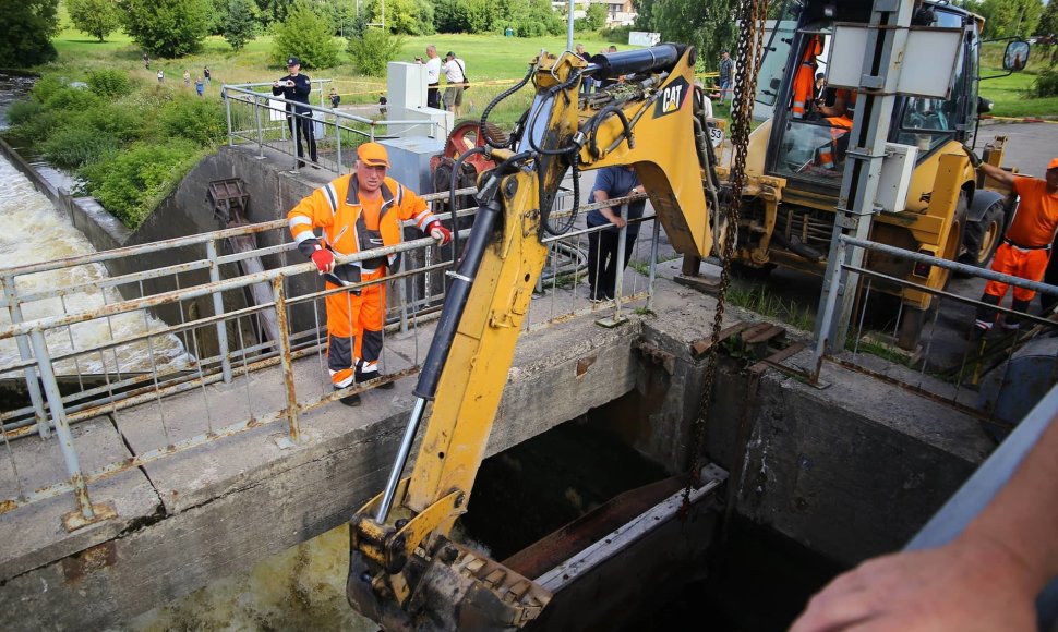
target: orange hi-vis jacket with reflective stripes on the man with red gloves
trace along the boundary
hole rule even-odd
[[[396,245],[402,241],[400,222],[414,219],[419,230],[425,231],[436,220],[425,200],[393,178],[386,178],[382,186],[378,217],[365,217],[364,209],[370,212],[376,205],[361,204],[358,190],[356,174],[336,178],[287,214],[290,234],[302,254],[312,256],[317,245],[330,248],[338,256]],[[323,229],[322,239],[313,232],[315,228]],[[399,255],[340,264],[327,275],[327,280],[348,285],[360,282],[363,274],[374,272],[382,266],[396,269],[399,265]]]

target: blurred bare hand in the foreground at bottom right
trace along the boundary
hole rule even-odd
[[[830,582],[790,632],[1035,630],[1026,562],[988,537],[864,562]]]

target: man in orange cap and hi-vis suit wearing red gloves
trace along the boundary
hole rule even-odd
[[[380,377],[386,284],[360,283],[377,281],[387,270],[396,270],[400,256],[381,255],[348,263],[337,263],[335,258],[400,243],[400,222],[409,219],[442,245],[452,239],[425,200],[386,177],[388,168],[386,148],[364,143],[357,149],[353,173],[315,190],[287,215],[298,250],[316,264],[327,290],[349,288],[326,297],[327,368],[335,390]],[[323,229],[322,236],[313,232],[317,228]],[[392,387],[393,382],[382,385]],[[340,401],[360,405],[360,396],[347,396]]]

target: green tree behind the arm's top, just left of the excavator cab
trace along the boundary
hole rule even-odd
[[[693,44],[699,63],[709,70],[717,69],[720,51],[733,49],[738,37],[735,0],[637,0],[636,8],[636,31],[658,32],[662,41]]]

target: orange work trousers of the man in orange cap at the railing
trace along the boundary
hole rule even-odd
[[[385,277],[385,268],[364,272],[362,281]],[[327,290],[338,288],[326,283]],[[327,369],[337,388],[353,382],[357,365],[363,372],[377,368],[382,354],[382,328],[386,314],[386,283],[365,285],[360,295],[338,292],[326,297]]]

